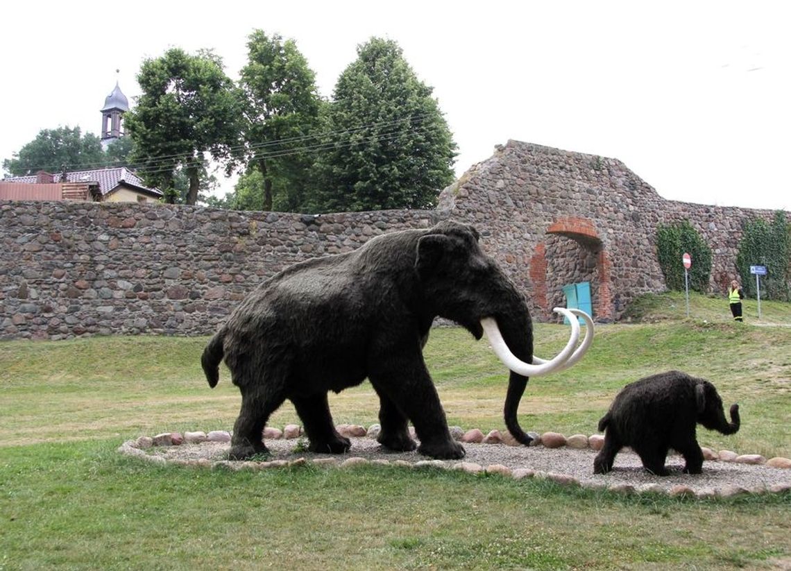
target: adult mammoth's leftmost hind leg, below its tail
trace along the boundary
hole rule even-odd
[[[229,459],[243,460],[255,454],[267,454],[269,449],[263,444],[263,427],[269,416],[285,400],[282,396],[262,394],[259,386],[240,386],[242,407],[239,418],[233,425]]]

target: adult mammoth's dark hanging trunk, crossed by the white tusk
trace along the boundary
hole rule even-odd
[[[523,361],[531,362],[533,354],[533,330],[529,320],[528,312],[517,312],[516,316],[497,317],[498,327],[502,332],[505,344],[511,352]],[[505,417],[505,427],[509,433],[521,444],[530,444],[531,437],[528,437],[521,429],[517,414],[519,413],[519,403],[524,395],[524,389],[528,386],[528,377],[511,371],[508,380],[508,392],[505,395],[505,407],[503,414]]]

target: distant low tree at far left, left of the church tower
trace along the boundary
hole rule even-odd
[[[2,167],[14,176],[34,175],[39,171],[101,168],[106,157],[100,139],[92,133],[81,134],[80,127],[58,127],[40,130],[36,138],[18,153],[2,162]]]

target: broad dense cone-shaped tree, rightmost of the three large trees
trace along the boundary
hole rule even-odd
[[[358,46],[327,110],[312,210],[435,206],[453,180],[456,144],[432,92],[394,41]]]

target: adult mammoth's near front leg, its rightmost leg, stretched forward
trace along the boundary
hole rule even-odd
[[[418,452],[437,459],[464,457],[464,448],[448,431],[437,389],[423,362],[419,343],[413,350],[387,347],[375,354],[369,372],[371,384],[409,418],[418,433]],[[392,408],[387,412],[392,414]]]

